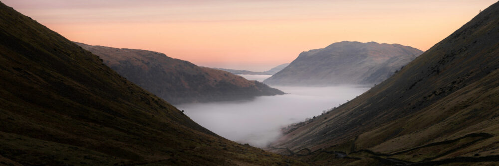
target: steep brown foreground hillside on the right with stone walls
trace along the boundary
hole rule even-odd
[[[498,68],[499,2],[383,83],[290,126],[270,149],[326,165],[495,165]]]

